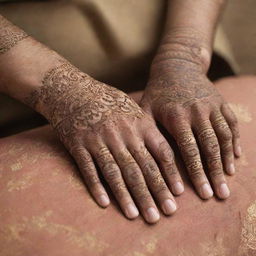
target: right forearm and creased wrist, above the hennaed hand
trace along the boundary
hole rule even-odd
[[[225,0],[170,0],[157,59],[195,62],[207,72],[216,24]]]

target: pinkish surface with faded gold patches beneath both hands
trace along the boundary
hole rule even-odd
[[[1,139],[0,256],[256,255],[255,83],[217,83],[234,111],[251,117],[239,110],[243,158],[228,178],[231,197],[202,201],[186,182],[177,213],[156,225],[127,220],[115,203],[97,206],[50,127]]]

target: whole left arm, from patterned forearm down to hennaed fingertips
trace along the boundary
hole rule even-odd
[[[48,119],[99,205],[108,206],[109,198],[95,163],[128,218],[139,209],[148,222],[158,221],[150,192],[165,214],[176,210],[171,175],[165,181],[154,160],[163,172],[177,173],[173,154],[153,119],[128,95],[81,72],[2,16],[0,91]]]

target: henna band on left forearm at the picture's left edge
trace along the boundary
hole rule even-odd
[[[15,46],[28,35],[11,22],[0,15],[0,54],[3,54]]]

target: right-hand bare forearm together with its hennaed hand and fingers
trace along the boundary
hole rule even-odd
[[[229,197],[224,171],[233,175],[234,155],[241,155],[236,117],[206,76],[224,2],[169,2],[164,36],[140,102],[176,140],[203,199],[213,190],[220,199]]]

